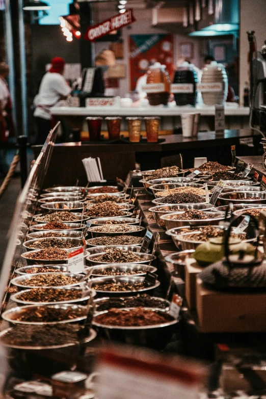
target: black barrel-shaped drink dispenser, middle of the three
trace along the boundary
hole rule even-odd
[[[194,65],[183,62],[174,74],[173,83],[193,84],[193,93],[174,93],[174,97],[176,105],[193,105],[195,107],[198,94],[196,90],[198,75]]]

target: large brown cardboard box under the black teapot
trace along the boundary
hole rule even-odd
[[[201,332],[266,331],[266,293],[216,291],[197,278],[196,305]]]

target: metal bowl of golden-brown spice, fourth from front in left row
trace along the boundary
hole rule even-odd
[[[35,273],[24,274],[11,280],[18,290],[39,287],[72,287],[79,284],[83,276],[75,273]]]

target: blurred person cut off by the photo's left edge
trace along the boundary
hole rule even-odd
[[[9,137],[14,136],[14,122],[12,117],[12,101],[6,82],[9,75],[9,66],[5,62],[0,63],[0,176],[5,176],[9,166],[6,162],[6,149],[1,149],[1,144],[8,142]]]

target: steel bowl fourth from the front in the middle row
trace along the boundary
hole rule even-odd
[[[119,277],[119,276],[145,276],[147,272],[155,273],[156,268],[153,266],[149,266],[147,264],[139,264],[139,263],[112,263],[112,266],[108,264],[103,264],[101,266],[95,266],[92,270],[93,277]],[[126,275],[125,273],[138,271],[134,274]],[[107,273],[114,273],[113,275],[104,274]]]

